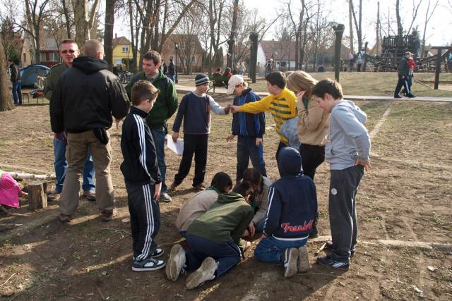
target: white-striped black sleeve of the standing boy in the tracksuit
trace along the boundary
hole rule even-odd
[[[137,115],[133,115],[138,131],[138,145],[141,149],[138,159],[145,173],[155,183],[160,183],[160,171],[157,165],[157,155],[155,152],[155,145],[150,131],[146,130],[145,121]]]

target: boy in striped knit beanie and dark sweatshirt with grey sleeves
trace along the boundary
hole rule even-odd
[[[169,188],[170,191],[176,190],[191,168],[191,159],[195,154],[195,176],[193,178],[193,187],[197,190],[204,190],[204,176],[206,175],[207,165],[207,146],[210,134],[210,111],[218,115],[229,113],[230,105],[223,108],[206,94],[209,88],[209,78],[200,73],[196,75],[196,90],[185,94],[182,98],[176,119],[172,125],[172,140],[177,141],[179,130],[184,120],[184,152],[179,165],[179,171],[174,176],[174,182]]]

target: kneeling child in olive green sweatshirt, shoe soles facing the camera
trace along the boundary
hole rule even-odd
[[[222,276],[240,262],[241,237],[254,215],[249,205],[252,192],[251,183],[237,184],[233,192],[219,195],[208,211],[191,223],[186,236],[191,250],[185,252],[181,245],[172,247],[166,268],[169,280],[177,281],[182,271],[196,269],[186,279],[190,290]]]

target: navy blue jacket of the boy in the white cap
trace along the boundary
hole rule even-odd
[[[258,95],[254,94],[251,88],[242,92],[242,95],[234,97],[234,106],[242,106],[249,102],[257,102],[261,100]],[[234,113],[232,115],[232,135],[242,135],[246,137],[262,138],[266,132],[266,115],[265,113]]]

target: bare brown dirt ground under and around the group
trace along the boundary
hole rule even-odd
[[[225,96],[215,98],[223,105],[231,101]],[[167,281],[164,270],[131,271],[131,237],[129,223],[124,222],[129,213],[119,171],[121,132],[112,129],[118,216],[102,223],[95,204],[85,199],[68,225],[55,220],[57,202],[35,213],[29,213],[23,202],[15,212],[29,217],[0,214],[0,223],[20,225],[0,232],[1,296],[5,300],[452,300],[452,249],[446,245],[452,230],[452,104],[357,104],[369,116],[369,131],[378,124],[379,132],[372,132],[372,169],[359,187],[359,243],[350,271],[314,264],[321,242],[309,242],[312,269],[288,279],[282,267],[257,262],[253,250],[218,281],[191,291],[184,288],[186,276],[173,283]],[[379,123],[385,112],[386,120]],[[206,183],[218,171],[234,178],[236,142],[225,142],[230,123],[231,116],[213,116]],[[0,168],[53,172],[49,106],[25,105],[1,112],[0,125]],[[273,126],[268,114],[265,159],[275,180],[278,137]],[[166,154],[170,184],[180,156],[169,150]],[[160,206],[162,227],[157,241],[166,254],[182,241],[175,221],[179,208],[194,195],[192,177],[193,168],[181,190],[172,195],[173,201]],[[325,163],[316,174],[320,235],[330,234],[328,183]],[[379,240],[412,242],[415,247],[388,246]]]

